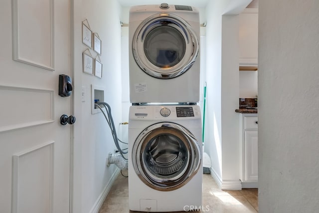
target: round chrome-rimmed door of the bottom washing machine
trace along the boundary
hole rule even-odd
[[[161,122],[146,128],[136,139],[132,162],[139,178],[159,191],[184,186],[197,173],[201,151],[184,127]]]

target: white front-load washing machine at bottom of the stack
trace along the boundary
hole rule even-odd
[[[176,212],[200,208],[202,173],[199,106],[130,107],[130,210]]]

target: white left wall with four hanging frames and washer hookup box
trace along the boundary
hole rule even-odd
[[[91,84],[105,89],[105,102],[112,108],[115,125],[122,122],[121,90],[121,8],[114,0],[73,0],[74,11],[74,125],[73,155],[73,212],[97,212],[108,187],[111,187],[117,168],[107,167],[109,152],[114,142],[102,113],[91,114]],[[93,32],[102,40],[103,78],[82,72],[82,51],[87,47],[81,40],[81,23],[89,21]],[[93,57],[97,54],[91,49]],[[85,87],[85,102],[81,88]],[[119,126],[119,131],[122,127]]]

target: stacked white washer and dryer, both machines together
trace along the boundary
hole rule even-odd
[[[130,9],[132,211],[190,211],[202,205],[199,25],[192,6]]]

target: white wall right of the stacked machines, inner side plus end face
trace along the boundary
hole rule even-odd
[[[206,7],[207,111],[204,151],[222,189],[239,189],[238,17],[251,0],[209,1]]]

